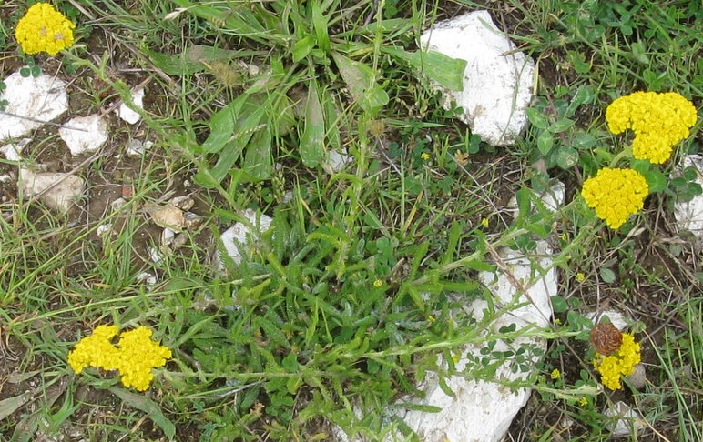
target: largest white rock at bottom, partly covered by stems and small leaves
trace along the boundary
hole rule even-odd
[[[556,294],[556,272],[552,268],[551,249],[545,241],[538,242],[533,261],[542,269],[545,275],[537,277],[532,284],[530,281],[533,272],[533,265],[528,257],[522,256],[519,252],[505,249],[500,252],[504,263],[510,269],[511,276],[504,273],[497,275],[492,272],[483,272],[479,278],[493,292],[496,306],[510,304],[516,293],[521,288],[513,286],[513,281],[518,281],[526,289],[525,294],[520,295],[518,302],[527,302],[526,306],[512,310],[504,316],[499,316],[491,323],[491,330],[497,332],[503,326],[515,324],[517,329],[534,324],[545,327],[549,324],[552,316],[550,296]],[[484,300],[477,300],[471,306],[474,316],[481,320],[484,316],[484,309],[488,307]],[[542,339],[519,338],[511,345],[537,347],[545,350],[546,343]],[[498,341],[494,351],[504,351],[509,349],[508,345]],[[456,364],[457,369],[462,370],[469,362],[467,357],[480,358],[480,346],[468,346],[465,353]],[[531,357],[531,364],[535,364],[538,357]],[[497,377],[506,380],[525,378],[529,373],[521,373],[518,370],[513,373],[510,369],[511,361],[508,360],[498,368]],[[453,376],[445,380],[455,397],[449,397],[439,387],[436,375],[432,374],[425,379],[422,390],[425,397],[420,401],[421,405],[441,407],[439,413],[425,413],[417,410],[408,411],[403,419],[405,423],[415,431],[423,442],[442,442],[444,440],[466,440],[466,441],[492,441],[497,442],[503,439],[505,432],[510,427],[513,418],[518,411],[527,403],[531,391],[521,388],[512,391],[494,382],[484,380],[468,380],[464,377]],[[481,425],[476,425],[476,423]]]

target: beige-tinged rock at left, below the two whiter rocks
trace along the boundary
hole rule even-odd
[[[25,196],[36,196],[46,191],[39,199],[46,206],[64,213],[86,189],[83,179],[78,176],[51,172],[36,174],[29,169],[20,169],[17,187]]]

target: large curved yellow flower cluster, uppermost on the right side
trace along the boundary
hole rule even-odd
[[[697,119],[696,107],[675,92],[636,92],[617,98],[606,109],[610,131],[620,134],[632,129],[632,154],[653,164],[667,161]]]

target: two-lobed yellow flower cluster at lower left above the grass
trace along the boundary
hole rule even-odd
[[[154,378],[151,369],[163,367],[171,357],[171,350],[151,340],[151,334],[146,326],[138,326],[121,333],[115,346],[110,340],[117,336],[117,326],[97,326],[68,354],[68,365],[77,374],[86,367],[118,370],[122,385],[144,391]]]

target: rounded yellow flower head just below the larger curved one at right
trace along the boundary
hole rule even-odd
[[[627,216],[642,210],[648,194],[647,180],[639,172],[609,167],[588,178],[581,190],[586,205],[595,209],[596,216],[612,229],[625,224]]]

